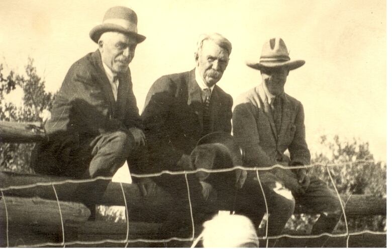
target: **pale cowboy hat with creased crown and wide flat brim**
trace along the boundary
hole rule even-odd
[[[262,70],[268,68],[286,67],[289,70],[297,69],[305,64],[305,60],[291,60],[284,41],[271,38],[263,44],[258,62],[247,62],[249,67]]]

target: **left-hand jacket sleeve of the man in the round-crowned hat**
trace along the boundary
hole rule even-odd
[[[110,115],[109,103],[93,76],[77,65],[65,76],[45,128],[48,134],[65,131],[74,135],[125,130],[123,123]]]

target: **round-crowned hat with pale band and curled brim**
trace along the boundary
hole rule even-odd
[[[137,43],[146,39],[145,36],[138,34],[138,17],[129,8],[117,6],[110,8],[104,16],[102,24],[95,26],[90,31],[90,38],[98,43],[101,35],[105,32],[121,32],[134,37]]]

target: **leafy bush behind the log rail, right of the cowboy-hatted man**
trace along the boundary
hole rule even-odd
[[[367,142],[355,138],[351,141],[342,141],[339,136],[334,136],[332,139],[321,136],[320,143],[324,150],[313,154],[312,163],[317,165],[310,170],[310,175],[319,177],[328,184],[329,188],[334,189],[325,167],[330,165],[328,168],[339,194],[366,194],[386,198],[386,164],[374,161]],[[295,215],[286,227],[310,231],[317,217]],[[349,231],[386,230],[384,216],[348,218],[347,221]],[[343,218],[336,229],[345,231]]]

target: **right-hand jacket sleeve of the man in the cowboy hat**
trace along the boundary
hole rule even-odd
[[[288,146],[290,152],[290,165],[310,164],[310,151],[305,140],[305,113],[304,107],[300,103],[297,111],[295,125],[290,129],[295,129],[294,137]]]

